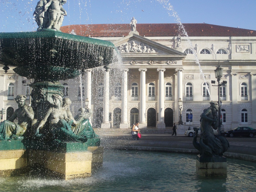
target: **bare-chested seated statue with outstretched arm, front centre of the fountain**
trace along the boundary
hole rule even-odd
[[[52,99],[54,106],[48,109],[44,118],[40,121],[35,135],[39,135],[39,129],[44,126],[49,118],[49,133],[52,140],[86,142],[87,138],[73,133],[71,126],[76,126],[77,124],[73,119],[68,118],[67,111],[62,108],[62,97],[52,94]]]

